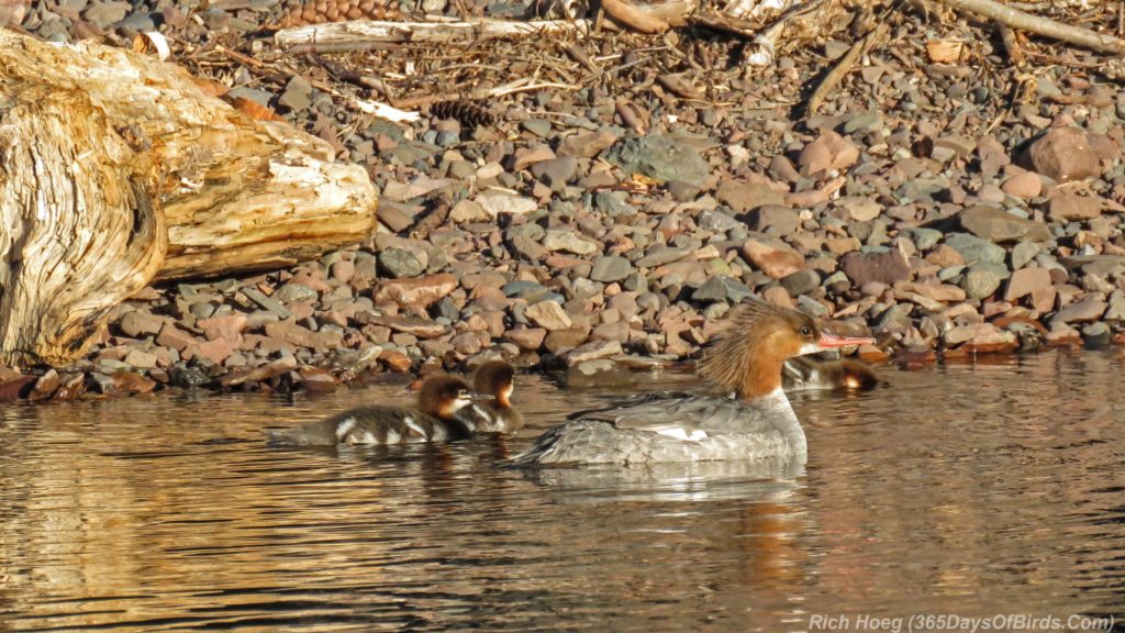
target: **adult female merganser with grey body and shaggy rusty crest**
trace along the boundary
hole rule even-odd
[[[873,342],[825,332],[809,315],[750,301],[699,365],[734,398],[658,395],[575,413],[512,458],[516,465],[803,458],[804,430],[782,391],[786,359]]]

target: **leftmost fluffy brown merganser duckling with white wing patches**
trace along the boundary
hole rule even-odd
[[[418,390],[417,408],[371,404],[336,413],[325,420],[271,431],[272,444],[331,446],[334,444],[416,444],[464,439],[471,422],[457,413],[472,403],[465,381],[453,376],[426,378]]]

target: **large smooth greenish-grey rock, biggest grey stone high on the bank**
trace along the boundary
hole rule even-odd
[[[700,186],[711,169],[687,141],[664,134],[626,139],[608,152],[611,162],[632,173],[666,182],[682,180]]]

